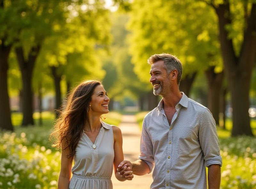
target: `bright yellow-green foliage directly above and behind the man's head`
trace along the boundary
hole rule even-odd
[[[135,72],[148,82],[147,59],[163,52],[178,56],[184,75],[209,65],[222,69],[216,20],[214,12],[203,2],[135,1],[129,22]]]

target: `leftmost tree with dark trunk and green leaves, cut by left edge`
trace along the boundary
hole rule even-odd
[[[0,0],[0,129],[6,130],[13,130],[7,87],[8,57],[18,34],[19,15],[22,12],[20,6],[13,10],[10,4],[10,1]]]

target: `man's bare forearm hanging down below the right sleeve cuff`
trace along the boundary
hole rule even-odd
[[[210,165],[208,167],[208,185],[209,189],[220,188],[220,165]]]

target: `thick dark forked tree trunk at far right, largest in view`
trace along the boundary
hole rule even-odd
[[[248,109],[250,81],[256,55],[256,4],[252,4],[250,18],[247,19],[245,24],[244,41],[239,57],[235,55],[232,39],[228,38],[226,30],[227,24],[231,24],[228,0],[214,8],[219,18],[220,47],[231,92],[231,105],[233,108],[233,129],[231,134],[232,136],[252,136]]]

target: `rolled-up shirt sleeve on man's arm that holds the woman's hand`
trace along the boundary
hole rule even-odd
[[[153,156],[153,144],[148,135],[146,118],[144,118],[142,124],[139,159],[143,160],[148,164],[148,167],[150,169],[148,173],[151,173],[155,165],[155,160]]]

